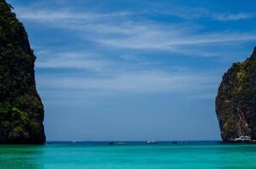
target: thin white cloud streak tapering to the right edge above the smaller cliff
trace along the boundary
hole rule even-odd
[[[136,33],[128,37],[112,37],[97,39],[96,41],[107,46],[119,48],[133,48],[145,50],[175,50],[176,46],[202,45],[236,41],[253,41],[256,40],[256,33],[236,33],[236,32],[219,32],[198,35],[188,35],[180,31],[171,32],[166,30],[149,30],[145,26],[145,31]],[[182,52],[182,51],[181,51]]]

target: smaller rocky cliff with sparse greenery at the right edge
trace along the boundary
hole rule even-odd
[[[224,74],[216,97],[216,113],[223,141],[241,135],[256,139],[256,47],[242,63]]]

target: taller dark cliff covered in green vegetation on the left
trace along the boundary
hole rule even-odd
[[[0,143],[43,144],[43,105],[24,26],[0,0]]]

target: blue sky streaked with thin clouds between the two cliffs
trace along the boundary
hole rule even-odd
[[[47,140],[220,139],[222,74],[256,2],[8,0],[36,54]]]

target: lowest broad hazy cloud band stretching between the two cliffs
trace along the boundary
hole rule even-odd
[[[167,74],[159,71],[114,74],[100,79],[95,79],[95,77],[59,77],[56,79],[46,76],[38,80],[44,88],[130,94],[211,90],[217,82],[213,74]]]

